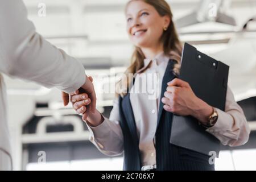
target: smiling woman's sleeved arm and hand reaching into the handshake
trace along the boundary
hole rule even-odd
[[[74,109],[78,114],[83,115],[83,120],[90,131],[90,141],[103,154],[108,156],[121,155],[123,152],[123,134],[119,125],[118,100],[114,101],[114,107],[110,113],[110,118],[104,117],[99,111],[88,113],[85,117],[86,106],[89,104],[86,94],[75,93],[71,97]]]

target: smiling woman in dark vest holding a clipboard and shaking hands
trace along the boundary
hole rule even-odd
[[[148,93],[119,92],[110,118],[106,118],[99,111],[86,113],[90,98],[74,93],[73,107],[88,125],[90,140],[105,155],[124,154],[124,170],[214,170],[210,156],[170,143],[172,115],[191,115],[207,126],[209,117],[217,114],[214,125],[201,132],[225,145],[245,144],[250,130],[232,91],[228,88],[225,111],[221,111],[200,100],[187,82],[177,78],[181,43],[166,1],[132,0],[125,13],[127,34],[135,46],[126,74],[137,73],[137,77],[122,81],[127,82],[127,88],[132,85],[137,89],[143,74],[158,74],[160,94],[152,100]]]

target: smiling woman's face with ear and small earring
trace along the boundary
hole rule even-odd
[[[168,16],[160,16],[154,6],[143,1],[129,3],[126,19],[129,38],[135,46],[140,48],[158,46],[163,28],[170,24]]]

